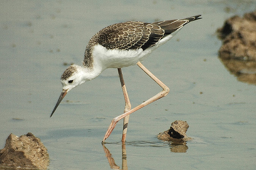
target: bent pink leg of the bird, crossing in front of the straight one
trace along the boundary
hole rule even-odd
[[[107,132],[106,132],[106,134],[105,134],[105,136],[104,136],[104,139],[102,140],[102,143],[108,138],[108,136],[110,136],[110,134],[112,133],[113,129],[114,129],[115,126],[116,126],[116,123],[117,123],[119,120],[121,120],[121,119],[123,119],[124,117],[126,117],[127,115],[130,115],[131,113],[137,111],[138,109],[143,108],[144,106],[146,106],[146,105],[148,105],[148,104],[150,104],[150,103],[152,103],[152,102],[158,100],[159,98],[165,97],[165,96],[169,93],[169,91],[170,91],[170,89],[169,89],[165,84],[163,84],[162,81],[160,81],[156,76],[154,76],[151,72],[149,72],[149,70],[146,69],[146,67],[144,67],[144,66],[141,64],[141,62],[137,62],[137,65],[138,65],[148,76],[150,76],[160,87],[162,87],[163,90],[162,90],[161,92],[159,92],[158,94],[154,95],[153,97],[149,98],[148,100],[144,101],[144,102],[141,103],[140,105],[136,106],[135,108],[131,109],[130,111],[127,111],[126,113],[121,114],[121,115],[119,115],[118,117],[115,117],[115,118],[111,121],[111,123],[110,123],[110,125],[109,125],[109,127],[108,127],[108,129],[107,129]]]

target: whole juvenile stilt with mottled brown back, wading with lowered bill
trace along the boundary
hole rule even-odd
[[[149,70],[141,64],[141,61],[143,61],[152,50],[170,40],[185,24],[201,19],[199,18],[200,16],[201,15],[181,20],[166,20],[154,23],[116,23],[99,31],[90,39],[86,46],[83,65],[69,66],[62,74],[61,83],[63,85],[63,91],[50,117],[52,117],[61,100],[69,90],[88,80],[93,80],[107,68],[117,68],[125,99],[124,114],[112,120],[102,142],[110,136],[116,123],[123,118],[124,128],[122,141],[124,142],[129,115],[149,103],[165,97],[169,92],[169,88],[149,72]],[[135,108],[130,109],[130,101],[124,85],[121,68],[135,64],[159,84],[163,90]]]

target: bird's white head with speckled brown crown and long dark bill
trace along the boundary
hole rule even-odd
[[[69,92],[69,90],[73,89],[74,87],[85,83],[86,78],[84,77],[83,68],[81,66],[72,65],[69,66],[64,73],[61,75],[61,83],[63,86],[63,90],[61,92],[60,98],[52,111],[50,117],[52,117],[53,113],[57,109],[58,105],[60,104],[61,100],[65,97],[65,95]]]

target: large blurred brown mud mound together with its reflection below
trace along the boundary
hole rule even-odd
[[[256,11],[226,20],[217,30],[219,58],[239,81],[256,84]]]

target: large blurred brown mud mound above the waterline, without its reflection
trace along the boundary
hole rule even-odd
[[[229,18],[217,32],[223,39],[220,58],[256,61],[256,11]]]

